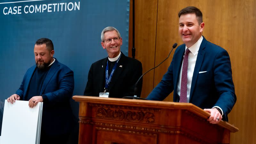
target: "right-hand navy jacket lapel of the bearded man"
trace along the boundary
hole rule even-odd
[[[50,82],[52,76],[55,74],[55,72],[58,70],[58,66],[59,66],[59,62],[57,61],[57,59],[55,59],[55,62],[52,64],[52,67],[49,69],[49,72],[47,73],[45,79],[44,79],[44,83],[40,92],[40,95],[43,94],[45,88],[47,87],[48,83]]]

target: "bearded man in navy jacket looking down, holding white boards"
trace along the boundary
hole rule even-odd
[[[28,69],[20,88],[7,101],[29,101],[31,108],[43,102],[40,143],[67,143],[73,116],[69,104],[74,90],[73,71],[53,58],[49,39],[37,40],[34,54],[36,65]]]

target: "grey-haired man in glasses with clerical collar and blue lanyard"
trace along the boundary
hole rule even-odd
[[[134,96],[134,85],[142,75],[141,62],[125,56],[120,48],[122,38],[114,27],[101,32],[101,46],[108,57],[94,62],[88,73],[84,96],[116,97]],[[140,97],[142,79],[138,83]]]

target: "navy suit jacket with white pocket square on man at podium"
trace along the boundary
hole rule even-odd
[[[180,97],[177,94],[177,84],[185,47],[185,44],[183,44],[176,49],[168,71],[161,82],[148,95],[147,99],[164,100],[174,91],[173,101],[180,101]],[[228,121],[227,115],[236,103],[228,52],[220,46],[207,41],[204,37],[196,59],[189,103],[195,104],[202,109],[219,106],[223,111],[222,120],[225,121]]]

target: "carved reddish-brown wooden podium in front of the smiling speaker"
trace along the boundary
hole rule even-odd
[[[79,106],[79,144],[229,143],[238,128],[210,124],[191,103],[73,96]]]

